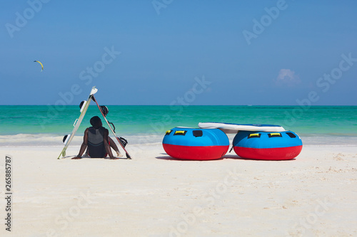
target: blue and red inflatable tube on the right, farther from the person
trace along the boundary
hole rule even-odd
[[[295,132],[238,132],[233,149],[245,159],[284,160],[300,154],[303,143]]]

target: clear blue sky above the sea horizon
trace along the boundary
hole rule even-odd
[[[1,1],[0,105],[357,105],[357,1]],[[39,60],[44,65],[34,62]]]

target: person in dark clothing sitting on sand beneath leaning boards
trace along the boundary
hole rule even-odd
[[[116,151],[118,157],[122,157],[118,147],[114,143],[113,139],[109,137],[109,131],[103,127],[101,119],[98,116],[94,116],[90,120],[92,127],[87,127],[84,131],[83,143],[79,154],[72,159],[81,159],[83,152],[88,147],[89,157],[105,158],[109,155],[110,159],[118,159],[111,153],[111,147]]]

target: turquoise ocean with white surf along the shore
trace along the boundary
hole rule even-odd
[[[117,135],[129,140],[129,145],[158,144],[166,130],[173,127],[198,127],[198,122],[281,125],[286,130],[296,132],[304,145],[357,145],[357,106],[107,107],[107,119],[114,123]],[[0,145],[63,146],[63,136],[71,133],[79,115],[79,106],[75,105],[1,105]],[[81,144],[84,130],[90,127],[89,120],[95,115],[101,117],[98,107],[90,105],[73,144]],[[105,122],[104,127],[107,127]]]

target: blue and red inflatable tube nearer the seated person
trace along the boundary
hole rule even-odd
[[[229,139],[218,129],[175,127],[166,131],[162,145],[176,159],[210,160],[226,154]]]

